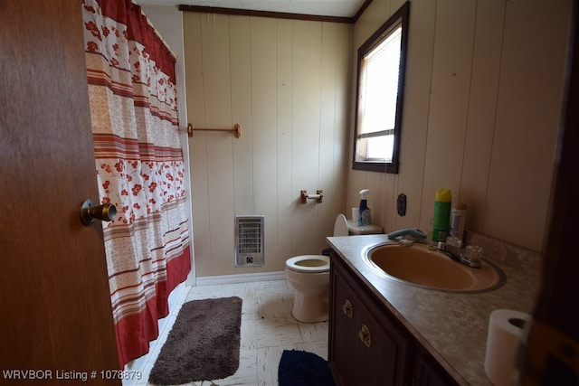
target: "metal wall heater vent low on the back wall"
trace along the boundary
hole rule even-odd
[[[263,215],[235,216],[235,267],[261,267]]]

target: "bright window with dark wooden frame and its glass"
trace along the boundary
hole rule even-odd
[[[398,173],[410,3],[358,49],[353,168]]]

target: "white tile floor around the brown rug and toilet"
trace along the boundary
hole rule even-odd
[[[293,288],[286,280],[187,287],[184,297],[184,301],[210,297],[242,298],[239,369],[231,377],[214,380],[216,385],[277,385],[278,365],[284,349],[305,350],[327,359],[327,322],[305,324],[291,316]],[[174,321],[177,312],[168,318]],[[137,386],[147,385],[148,374],[173,321],[166,323],[156,343],[152,344],[141,380],[135,383]],[[189,386],[211,384],[210,381],[187,383]]]

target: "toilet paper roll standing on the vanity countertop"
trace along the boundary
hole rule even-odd
[[[524,312],[497,309],[490,313],[485,372],[496,386],[512,385],[518,344],[532,316]]]

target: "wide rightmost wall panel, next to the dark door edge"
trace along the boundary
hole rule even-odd
[[[565,1],[506,5],[484,230],[534,250],[546,227],[569,9]]]

